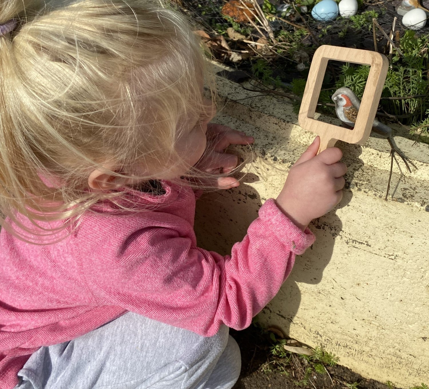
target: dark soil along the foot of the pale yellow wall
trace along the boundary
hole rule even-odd
[[[260,329],[250,326],[243,331],[230,330],[230,334],[239,344],[242,354],[242,370],[240,378],[233,389],[287,389],[287,388],[317,388],[317,389],[347,389],[346,384],[357,383],[357,389],[389,389],[384,383],[363,378],[341,365],[327,366],[328,374],[311,374],[311,383],[298,385],[304,378],[308,362],[293,354],[292,361],[287,367],[287,374],[273,370],[270,373],[262,371],[262,366],[276,357],[269,352],[270,340]],[[341,361],[340,361],[341,362]]]

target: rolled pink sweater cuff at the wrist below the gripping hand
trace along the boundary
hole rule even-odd
[[[301,255],[310,247],[315,236],[306,228],[299,229],[275,204],[274,199],[268,199],[259,210],[259,217],[277,238],[295,255]]]

